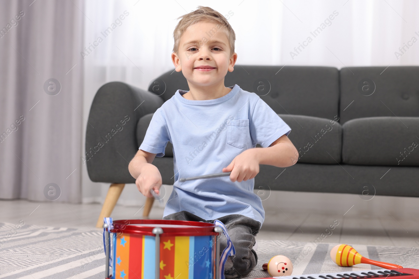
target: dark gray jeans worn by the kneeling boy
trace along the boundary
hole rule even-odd
[[[183,220],[183,221],[202,221],[214,223],[214,220],[204,220],[188,211],[172,213],[163,218],[163,220]],[[233,242],[235,255],[231,257],[233,266],[225,266],[224,274],[226,278],[241,278],[254,269],[258,262],[258,256],[253,250],[255,245],[255,235],[259,232],[261,223],[241,214],[226,215],[217,218],[224,223],[228,235]],[[227,238],[222,233],[220,241],[220,253],[227,246]],[[228,256],[230,258],[230,256]]]

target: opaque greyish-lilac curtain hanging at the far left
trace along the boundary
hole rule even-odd
[[[1,199],[81,201],[83,9],[0,3]]]

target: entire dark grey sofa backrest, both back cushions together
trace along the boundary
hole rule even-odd
[[[375,116],[419,117],[419,67],[241,66],[225,77],[255,92],[276,113],[336,119]],[[162,74],[149,91],[169,100],[189,90],[182,72]]]

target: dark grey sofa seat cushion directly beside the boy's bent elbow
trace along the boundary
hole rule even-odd
[[[341,162],[342,127],[338,122],[305,115],[278,115],[291,128],[288,138],[297,148],[298,162],[317,164]]]

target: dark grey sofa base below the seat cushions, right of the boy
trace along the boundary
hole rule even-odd
[[[262,200],[270,198],[269,195],[274,190],[356,194],[345,197],[354,202],[358,199],[361,202],[368,201],[375,195],[419,197],[419,167],[393,166],[390,171],[388,169],[388,166],[346,164],[297,163],[287,168],[261,165],[259,174],[255,177],[254,189],[262,194],[259,194]],[[163,175],[168,176],[162,173],[162,177]],[[344,213],[349,206],[346,209],[341,208],[341,211]]]

